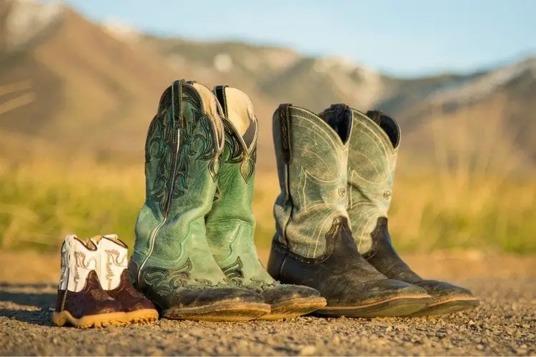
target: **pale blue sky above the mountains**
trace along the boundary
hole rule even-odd
[[[466,73],[536,54],[536,0],[65,2],[96,21],[187,39],[289,46],[399,76]]]

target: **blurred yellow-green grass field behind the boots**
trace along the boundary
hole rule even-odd
[[[445,248],[536,253],[536,182],[467,170],[399,165],[389,227],[402,251]],[[533,176],[532,176],[533,177]],[[257,246],[274,231],[277,176],[257,174]],[[142,166],[80,159],[0,164],[0,248],[56,251],[66,233],[118,233],[129,244],[144,203]]]

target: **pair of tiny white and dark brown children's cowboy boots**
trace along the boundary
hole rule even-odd
[[[79,328],[156,321],[154,304],[129,280],[127,253],[115,234],[86,240],[66,236],[52,321]]]

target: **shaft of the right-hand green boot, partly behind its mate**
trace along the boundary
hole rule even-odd
[[[254,248],[252,198],[259,127],[252,102],[243,91],[217,86],[214,94],[224,111],[225,144],[217,191],[205,223],[212,253],[222,261],[232,246],[242,253],[246,246]]]

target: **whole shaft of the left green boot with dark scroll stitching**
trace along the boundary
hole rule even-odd
[[[147,198],[134,246],[139,269],[149,258],[163,268],[188,266],[184,257],[195,255],[197,241],[206,245],[204,216],[224,144],[221,116],[217,99],[202,84],[175,81],[162,94],[145,146]]]

